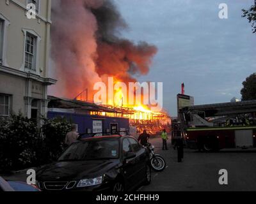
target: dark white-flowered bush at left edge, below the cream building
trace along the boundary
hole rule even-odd
[[[0,168],[16,170],[31,165],[36,159],[39,134],[35,120],[12,115],[0,121]]]

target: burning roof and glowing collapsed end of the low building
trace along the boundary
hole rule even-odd
[[[165,112],[147,112],[129,107],[111,105],[96,105],[88,101],[63,99],[49,96],[48,108],[74,109],[76,113],[95,115],[100,117],[124,117],[129,119],[130,126],[134,126],[140,133],[147,129],[148,133],[156,134],[162,129],[170,131],[171,117]]]

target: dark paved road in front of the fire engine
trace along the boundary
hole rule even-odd
[[[185,149],[184,161],[177,163],[177,152],[171,144],[161,149],[161,139],[150,140],[156,146],[168,168],[152,173],[152,184],[140,191],[256,191],[256,150],[225,149],[203,153]],[[228,171],[228,185],[218,182],[219,170]]]

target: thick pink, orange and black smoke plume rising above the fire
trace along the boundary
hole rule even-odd
[[[134,76],[146,75],[157,48],[121,38],[126,28],[110,0],[52,1],[51,54],[58,79],[52,93],[74,98],[88,89],[92,100],[95,82],[134,82]]]

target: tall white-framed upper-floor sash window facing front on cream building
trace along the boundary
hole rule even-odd
[[[25,68],[36,71],[36,36],[26,34]]]

